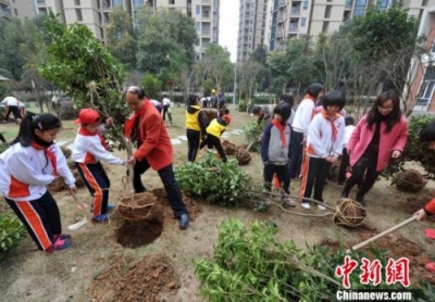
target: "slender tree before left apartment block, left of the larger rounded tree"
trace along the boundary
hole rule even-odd
[[[116,9],[110,14],[107,47],[126,70],[136,68],[136,39],[132,17],[126,11]]]

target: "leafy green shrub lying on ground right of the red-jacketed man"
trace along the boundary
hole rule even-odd
[[[175,177],[184,192],[224,206],[236,205],[250,183],[236,160],[223,163],[211,151],[202,162],[177,167]]]

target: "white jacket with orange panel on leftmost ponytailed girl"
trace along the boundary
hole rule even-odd
[[[55,143],[48,148],[57,158],[57,169],[65,184],[72,187],[75,178],[62,150]],[[47,185],[54,180],[53,167],[46,151],[14,143],[0,154],[0,191],[11,200],[29,201],[41,198]]]

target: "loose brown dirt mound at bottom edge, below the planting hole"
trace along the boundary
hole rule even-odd
[[[88,288],[92,301],[161,301],[161,293],[179,289],[177,273],[165,255],[134,262],[120,256],[95,277]]]

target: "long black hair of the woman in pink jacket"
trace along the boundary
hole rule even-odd
[[[382,106],[383,103],[386,101],[391,100],[394,104],[394,109],[391,112],[383,116],[380,113],[380,106]],[[389,133],[393,129],[393,126],[400,121],[401,117],[401,111],[400,111],[400,97],[399,95],[394,91],[394,90],[388,90],[382,92],[375,100],[373,106],[370,109],[368,113],[368,125],[369,128],[371,129],[375,123],[385,121],[387,127],[385,129],[386,133]]]

